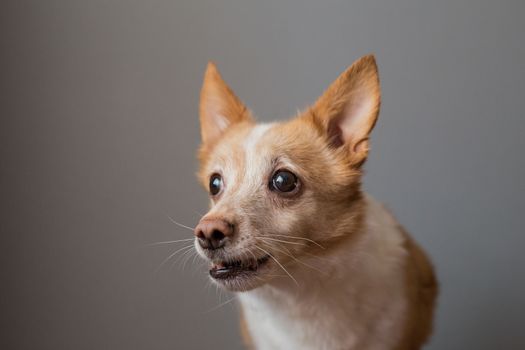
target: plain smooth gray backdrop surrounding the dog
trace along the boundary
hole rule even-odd
[[[261,120],[377,56],[366,188],[437,266],[428,349],[523,349],[523,1],[2,1],[0,348],[240,349],[191,259],[209,59]],[[210,311],[211,310],[211,311]]]

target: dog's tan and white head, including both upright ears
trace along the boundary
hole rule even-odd
[[[195,245],[210,261],[212,280],[234,291],[280,276],[293,280],[291,266],[355,231],[361,165],[378,110],[371,56],[303,114],[272,124],[256,124],[208,66],[199,177],[211,209],[195,229]]]

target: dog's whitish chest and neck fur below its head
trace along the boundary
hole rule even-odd
[[[297,269],[299,286],[239,294],[258,350],[391,349],[403,329],[404,237],[395,219],[367,197],[365,234],[316,265]],[[314,262],[310,262],[314,263]]]

